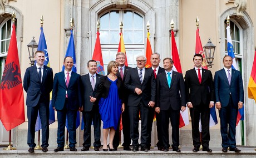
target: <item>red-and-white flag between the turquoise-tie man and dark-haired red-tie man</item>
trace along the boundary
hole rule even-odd
[[[173,70],[175,72],[182,73],[179,52],[174,38],[174,32],[171,30],[171,56],[173,57]],[[180,128],[189,124],[189,112],[188,108],[183,112],[180,111]]]

